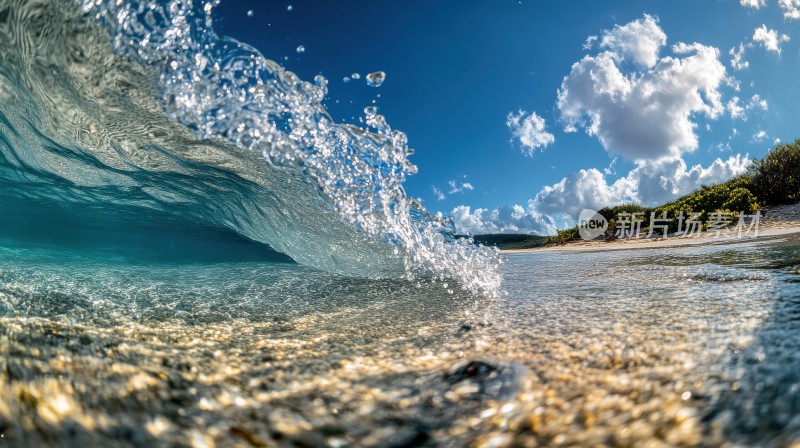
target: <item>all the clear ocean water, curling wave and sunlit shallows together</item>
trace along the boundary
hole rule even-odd
[[[215,2],[0,0],[0,446],[800,440],[800,240],[502,256]]]

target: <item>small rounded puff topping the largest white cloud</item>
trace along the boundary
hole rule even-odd
[[[658,26],[658,19],[646,15],[627,25],[616,25],[603,32],[600,47],[607,48],[617,61],[631,60],[644,67],[658,62],[658,53],[667,43],[667,35]]]

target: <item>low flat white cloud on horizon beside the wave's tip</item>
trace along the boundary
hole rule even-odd
[[[453,209],[453,223],[459,233],[480,235],[486,233],[534,233],[552,235],[556,225],[549,216],[521,205],[501,207],[494,210],[460,205]]]

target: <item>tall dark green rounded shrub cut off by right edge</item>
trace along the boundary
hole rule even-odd
[[[754,193],[764,204],[800,202],[800,140],[776,147],[752,172]]]

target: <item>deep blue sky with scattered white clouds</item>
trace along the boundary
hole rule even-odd
[[[223,0],[215,18],[325,76],[336,121],[377,106],[415,150],[408,195],[462,232],[660,204],[800,138],[800,0]]]

